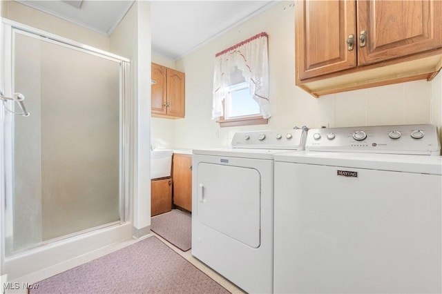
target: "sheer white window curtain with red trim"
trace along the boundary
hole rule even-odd
[[[267,33],[261,32],[215,55],[212,119],[219,119],[224,114],[222,101],[231,86],[230,74],[237,68],[249,83],[250,95],[260,106],[262,117],[271,116],[267,38]]]

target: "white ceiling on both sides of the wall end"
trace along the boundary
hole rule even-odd
[[[133,0],[15,0],[111,35]],[[214,37],[270,8],[276,0],[151,1],[151,42],[156,55],[177,60]]]

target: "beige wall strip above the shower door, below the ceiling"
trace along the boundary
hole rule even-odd
[[[102,50],[109,50],[109,38],[99,32],[84,28],[70,21],[59,19],[12,0],[1,1],[1,17],[38,28],[79,43]]]

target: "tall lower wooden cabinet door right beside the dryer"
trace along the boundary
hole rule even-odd
[[[192,155],[173,155],[173,204],[192,210]]]

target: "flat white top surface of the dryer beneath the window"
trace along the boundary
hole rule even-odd
[[[293,150],[277,150],[277,149],[247,149],[247,148],[218,148],[218,149],[194,149],[193,155],[211,155],[221,157],[242,157],[250,159],[267,159],[273,160],[278,153],[293,152]]]

